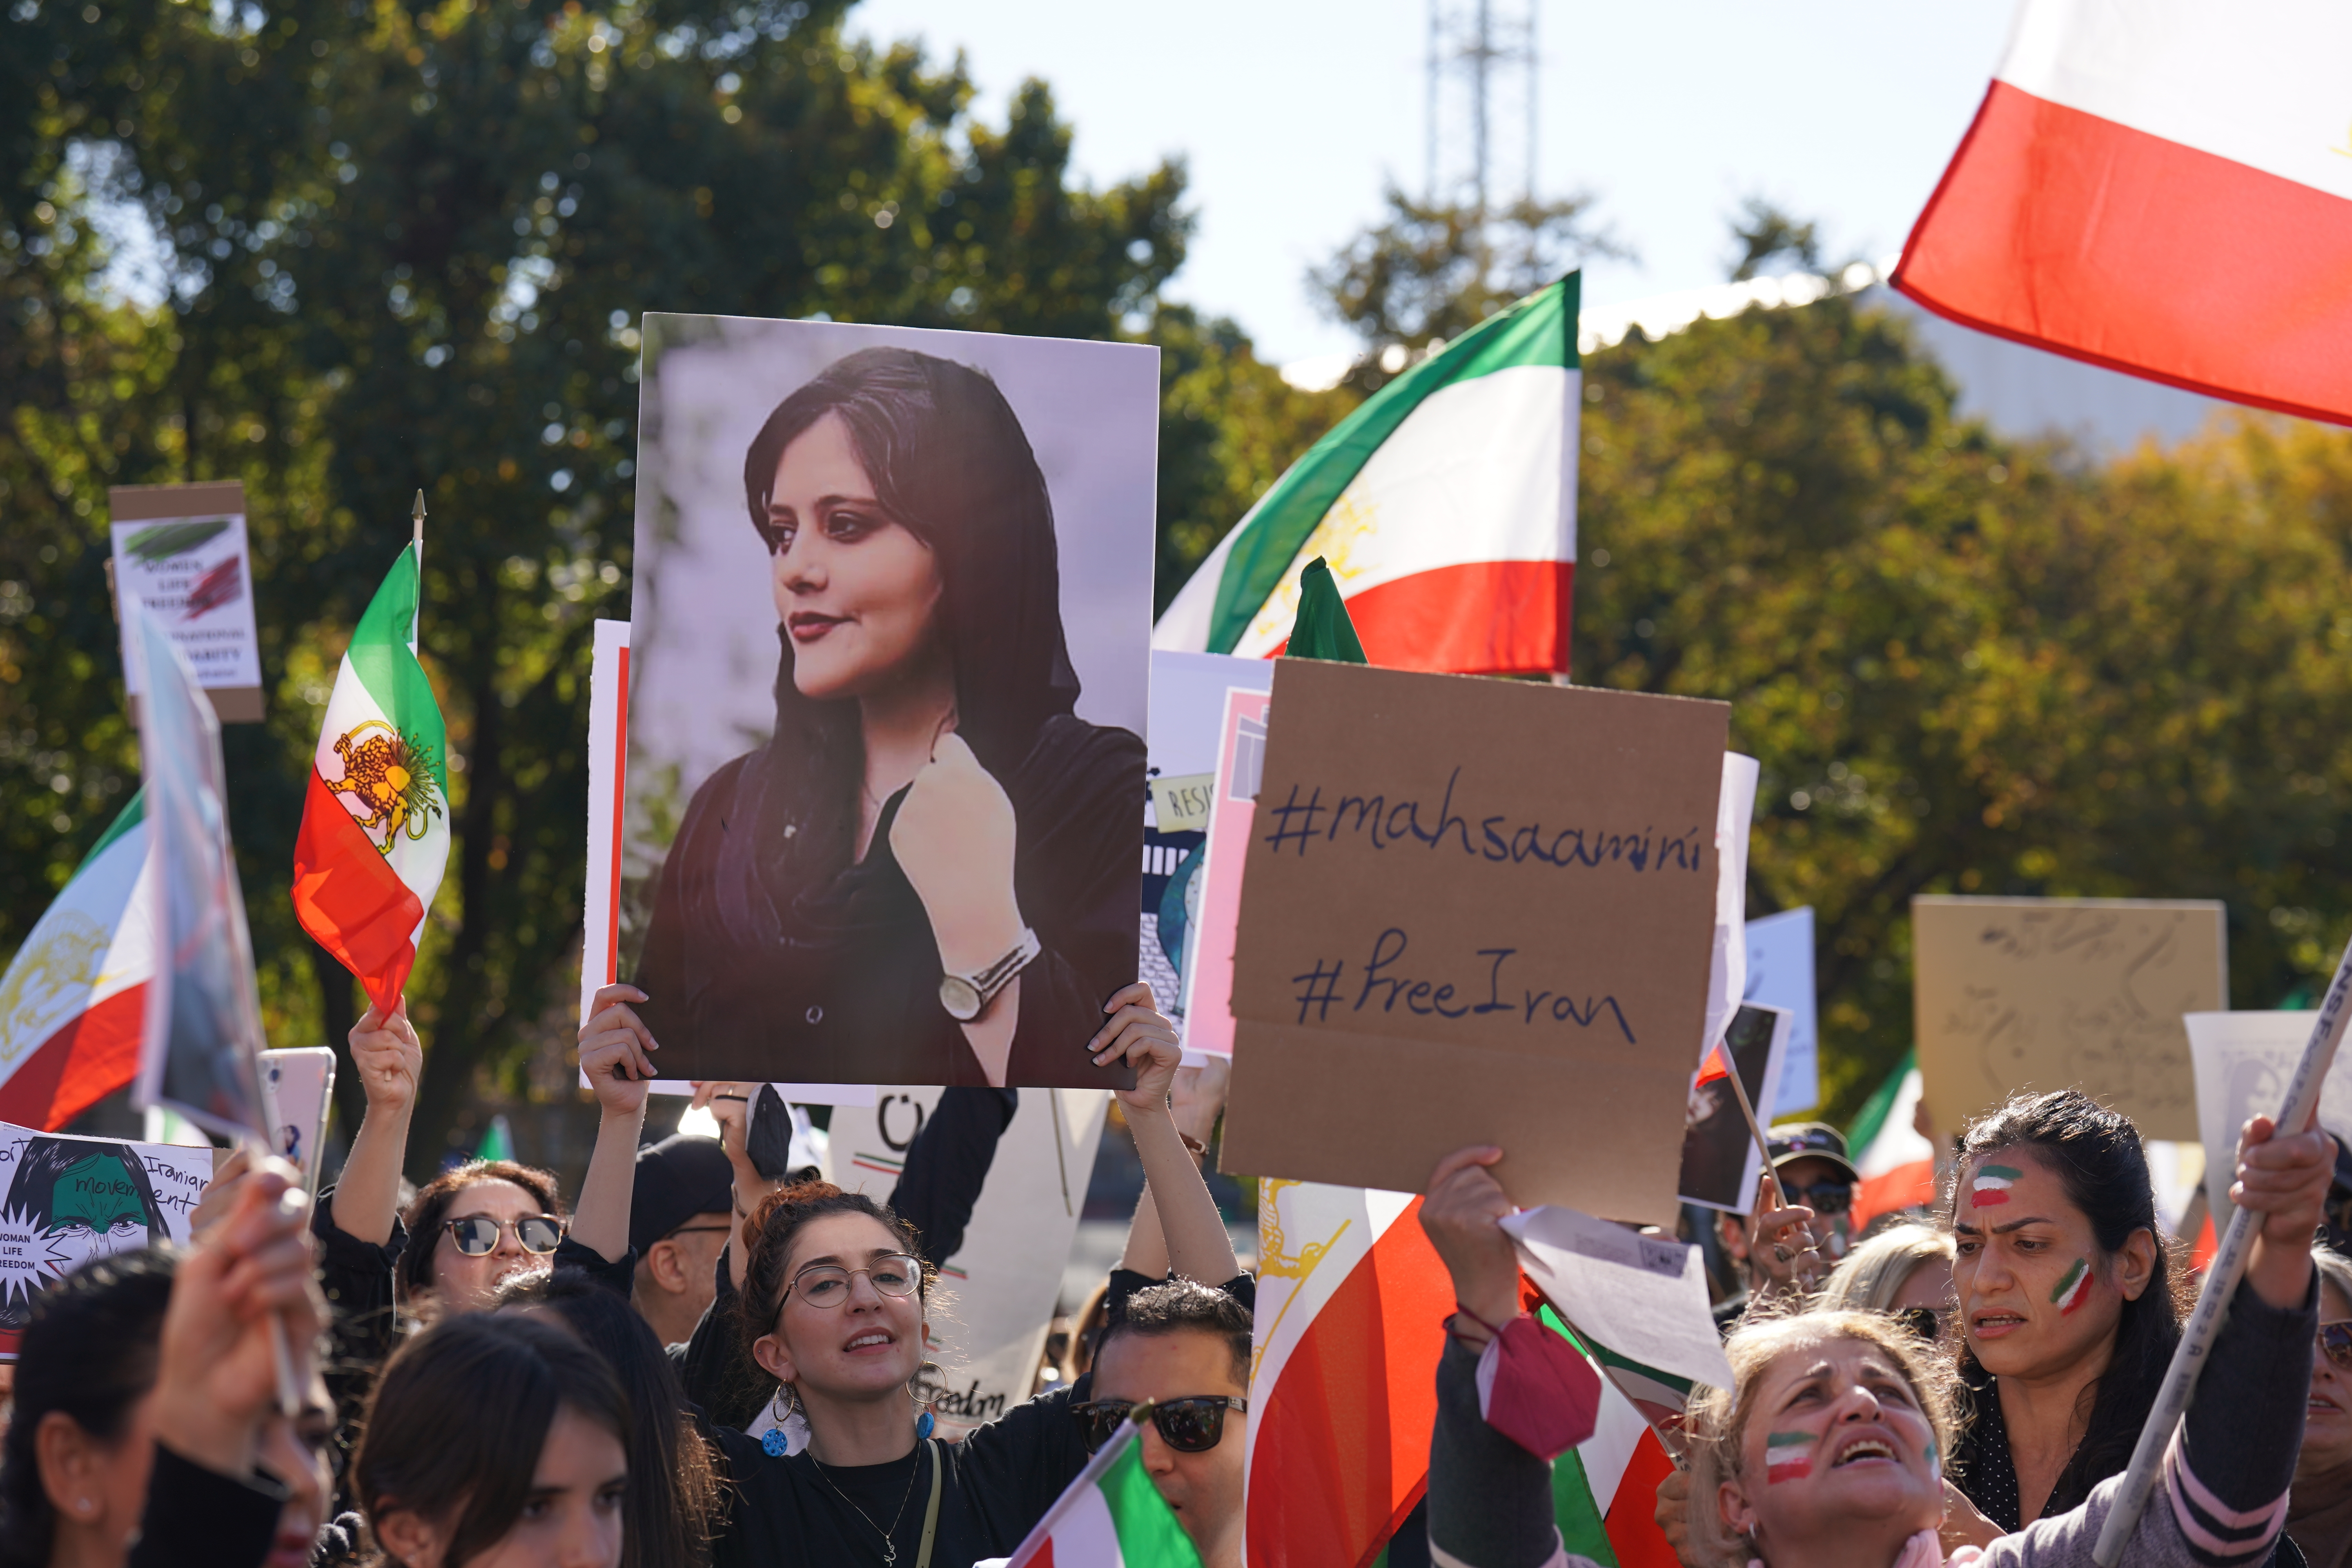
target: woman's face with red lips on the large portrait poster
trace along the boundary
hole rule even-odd
[[[802,430],[776,461],[767,536],[802,696],[868,696],[936,651],[938,557],[875,501],[840,414]]]

